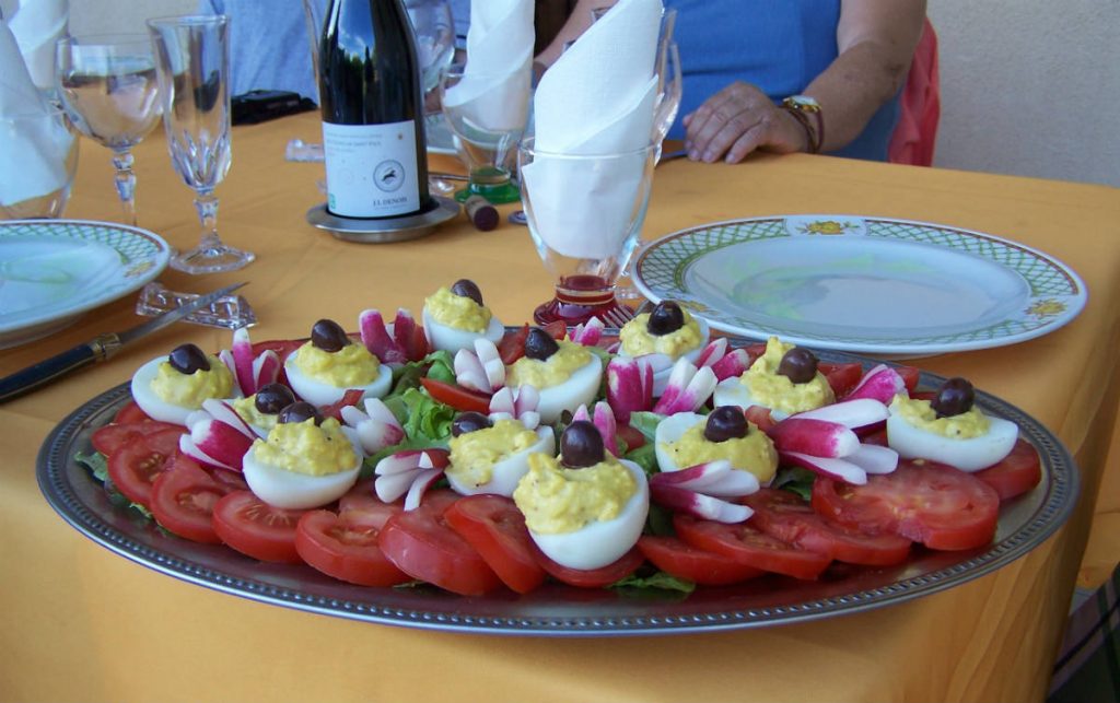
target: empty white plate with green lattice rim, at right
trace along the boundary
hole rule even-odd
[[[634,282],[755,339],[920,356],[1016,344],[1084,308],[1085,285],[1043,252],[944,225],[851,215],[737,219],[645,245]]]

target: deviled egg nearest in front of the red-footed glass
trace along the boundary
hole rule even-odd
[[[525,355],[505,372],[511,388],[533,386],[540,394],[536,411],[550,424],[563,411],[576,412],[595,400],[603,377],[603,362],[584,345],[553,339],[540,327],[529,330]]]

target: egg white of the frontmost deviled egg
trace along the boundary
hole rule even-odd
[[[586,571],[618,561],[637,544],[650,513],[650,486],[641,467],[624,459],[620,461],[629,469],[637,486],[618,516],[556,535],[542,535],[530,529],[529,535],[545,556],[569,569]]]

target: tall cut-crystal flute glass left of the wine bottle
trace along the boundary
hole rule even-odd
[[[171,165],[194,189],[203,225],[198,246],[170,262],[187,273],[233,271],[255,259],[217,236],[214,188],[225,178],[231,159],[227,27],[224,15],[148,20]]]

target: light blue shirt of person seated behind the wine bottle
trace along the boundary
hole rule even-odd
[[[327,0],[311,0],[320,15]],[[470,0],[450,0],[456,35],[466,44]],[[230,94],[292,91],[317,100],[311,39],[300,0],[198,0],[204,15],[230,16]],[[318,31],[317,31],[318,34]]]

